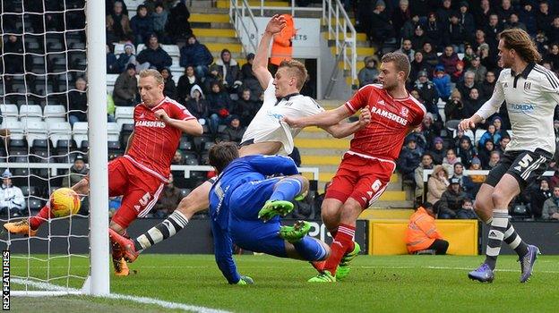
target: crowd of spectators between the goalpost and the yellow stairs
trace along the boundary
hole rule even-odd
[[[115,105],[137,104],[135,75],[154,68],[165,80],[165,95],[186,106],[215,139],[240,141],[262,106],[263,90],[252,71],[254,54],[247,55],[242,67],[228,49],[214,60],[190,28],[185,1],[172,3],[145,1],[132,19],[122,1],[112,1],[107,8],[107,42],[125,44],[125,52],[118,56],[107,47],[107,72],[119,74],[113,91]],[[180,27],[175,30],[171,24]],[[141,44],[145,48],[136,54]],[[180,47],[179,65],[185,72],[177,83],[170,71],[171,57],[161,44]]]

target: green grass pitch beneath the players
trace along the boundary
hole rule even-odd
[[[315,275],[305,262],[268,256],[236,257],[242,275],[255,284],[228,285],[212,256],[142,255],[130,265],[137,274],[111,275],[111,292],[235,312],[557,312],[559,256],[540,256],[529,283],[519,283],[516,258],[499,258],[494,283],[469,281],[467,273],[482,257],[359,256],[348,279],[311,284]],[[87,260],[73,258],[75,275],[84,275]],[[67,271],[67,258],[50,264],[50,275]],[[44,262],[30,264],[41,276]],[[13,258],[12,274],[27,272]],[[43,276],[44,277],[44,276]],[[65,283],[53,281],[52,283]],[[72,280],[70,285],[78,287]],[[13,290],[22,285],[13,284]],[[12,298],[16,312],[162,312],[154,305],[125,300],[64,296]]]

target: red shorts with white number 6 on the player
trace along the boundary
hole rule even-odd
[[[345,203],[351,198],[365,209],[383,194],[395,167],[391,161],[346,153],[326,190],[325,199],[338,199]]]

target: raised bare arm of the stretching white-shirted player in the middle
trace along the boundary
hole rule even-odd
[[[268,71],[268,51],[270,50],[271,38],[273,38],[274,34],[283,30],[284,27],[286,27],[285,18],[278,14],[274,15],[271,20],[268,21],[268,25],[266,25],[266,30],[264,30],[256,54],[254,55],[254,76],[256,76],[256,79],[260,82],[260,86],[262,86],[263,89],[268,88],[268,84],[272,79],[271,73]]]

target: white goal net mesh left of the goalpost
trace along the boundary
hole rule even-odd
[[[89,145],[82,83],[85,1],[1,5],[0,219],[5,224],[35,216],[53,190],[79,181],[87,173],[80,160],[87,162]],[[82,195],[78,215],[47,219],[35,236],[1,227],[3,250],[11,251],[12,291],[82,287],[90,270],[88,216],[88,198]]]

